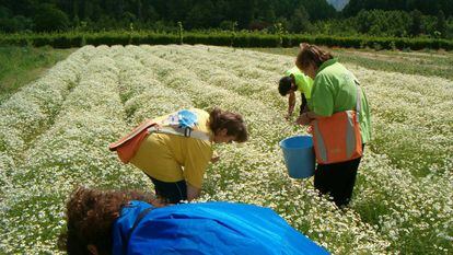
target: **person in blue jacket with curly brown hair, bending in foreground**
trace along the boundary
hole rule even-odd
[[[164,206],[138,192],[77,188],[59,247],[72,254],[328,254],[271,209],[233,202]]]

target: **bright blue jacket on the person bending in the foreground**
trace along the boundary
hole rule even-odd
[[[114,254],[329,254],[271,209],[199,202],[154,208],[131,232],[141,211],[132,201],[113,228]],[[127,244],[129,232],[130,239]]]

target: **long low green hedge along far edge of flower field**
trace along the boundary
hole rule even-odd
[[[453,40],[432,38],[383,38],[383,37],[336,37],[310,35],[275,35],[258,33],[185,33],[184,44],[206,44],[235,47],[293,47],[299,43],[330,47],[376,48],[376,49],[453,49]],[[81,47],[83,45],[128,45],[128,44],[179,44],[176,34],[143,32],[104,32],[67,34],[26,34],[0,37],[0,45],[35,46],[49,45],[55,48]]]

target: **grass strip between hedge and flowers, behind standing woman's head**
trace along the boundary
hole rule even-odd
[[[252,50],[297,56],[299,48],[252,48]],[[371,70],[441,77],[453,80],[453,54],[448,51],[394,51],[371,49],[328,49],[340,61]]]

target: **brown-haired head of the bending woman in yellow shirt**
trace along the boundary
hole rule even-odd
[[[245,142],[248,140],[247,127],[240,114],[213,108],[209,113],[209,128],[216,143]]]

